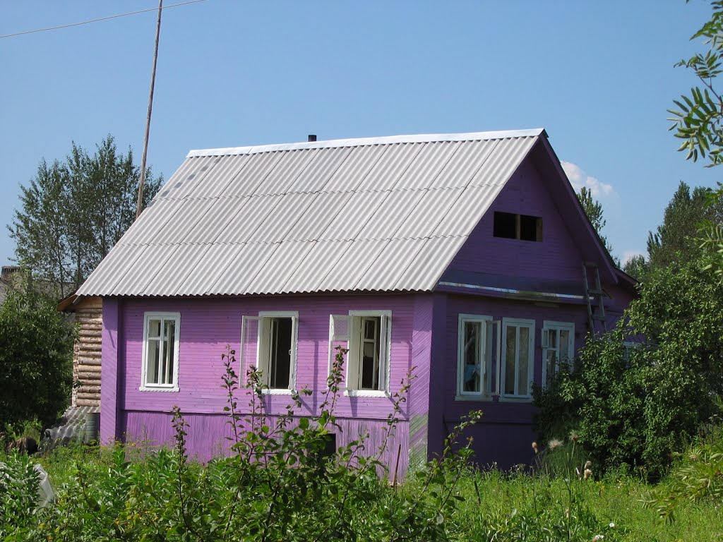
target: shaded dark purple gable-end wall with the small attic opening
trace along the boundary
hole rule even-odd
[[[448,270],[529,278],[530,284],[540,278],[574,282],[579,284],[576,293],[582,295],[583,260],[598,262],[602,280],[605,280],[607,259],[602,251],[595,248],[594,234],[589,231],[584,235],[584,229],[589,228],[589,224],[572,220],[578,213],[575,201],[560,189],[560,181],[554,177],[557,172],[549,167],[549,156],[539,149],[537,151],[510,178]],[[492,233],[494,211],[541,217],[542,241],[496,238]],[[577,230],[571,231],[571,228]],[[581,244],[581,239],[586,241],[585,244]],[[612,327],[628,306],[632,293],[630,288],[609,282],[604,283],[604,288],[612,297],[605,301],[608,326]],[[575,324],[575,348],[578,350],[589,330],[586,304],[582,300],[570,299],[555,303],[518,301],[502,294],[497,297],[482,296],[479,291],[465,288],[444,289],[448,291],[442,309],[445,317],[441,319],[435,313],[433,331],[435,361],[432,379],[435,385],[430,395],[432,404],[439,406],[432,409],[435,416],[430,416],[429,434],[435,435],[430,438],[430,452],[440,451],[442,440],[439,435],[448,433],[472,410],[482,410],[482,423],[469,431],[469,435],[474,436],[476,460],[482,465],[497,463],[501,468],[529,463],[533,457],[531,442],[536,439],[531,426],[534,413],[531,403],[505,402],[498,397],[485,401],[458,400],[455,397],[459,314],[484,315],[500,321],[503,318],[534,319],[534,382],[542,384],[544,320]],[[529,289],[535,290],[534,286]],[[445,370],[435,371],[440,366]]]

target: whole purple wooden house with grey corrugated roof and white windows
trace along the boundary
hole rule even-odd
[[[375,449],[416,367],[401,475],[479,409],[479,462],[529,462],[532,384],[633,293],[542,129],[192,151],[78,291],[103,297],[103,442],[168,442],[179,405],[190,452],[223,453],[226,345],[270,415],[309,387],[309,416],[341,344],[338,445]]]

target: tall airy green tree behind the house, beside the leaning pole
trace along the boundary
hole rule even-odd
[[[139,180],[132,150],[119,152],[111,135],[93,155],[73,143],[63,162],[41,160],[8,225],[15,259],[56,295],[72,293],[133,223]],[[148,168],[145,205],[162,183]]]

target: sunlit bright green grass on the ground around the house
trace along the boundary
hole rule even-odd
[[[131,452],[133,460],[142,461],[147,450],[142,447],[135,450]],[[63,484],[77,474],[78,465],[82,465],[89,480],[107,472],[111,463],[109,454],[108,450],[97,447],[72,444],[55,449],[46,457],[38,457],[38,462],[48,471],[56,490],[61,492]],[[4,454],[0,452],[0,461],[3,459]],[[615,525],[604,532],[604,542],[723,542],[723,505],[712,499],[683,502],[675,520],[662,522],[655,509],[644,504],[650,499],[654,486],[635,478],[610,476],[600,481],[576,478],[573,483],[566,484],[562,476],[508,475],[497,471],[470,472],[456,482],[455,494],[464,500],[458,503],[450,517],[450,537],[460,542],[490,540],[492,531],[497,529],[499,532],[494,539],[498,541],[541,540],[536,538],[534,526],[529,530],[520,528],[528,533],[524,538],[505,534],[505,522],[510,522],[513,511],[516,511],[515,520],[523,517],[524,521],[540,525],[565,522],[565,510],[570,503],[568,488],[573,491],[573,502],[579,505],[573,504],[573,518],[582,523],[591,522],[596,527]],[[416,494],[419,487],[408,482],[389,491]],[[591,527],[590,532],[596,533],[596,527]]]

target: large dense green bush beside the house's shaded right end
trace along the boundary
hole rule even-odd
[[[577,429],[604,469],[660,478],[719,408],[723,392],[723,285],[700,259],[650,272],[625,322],[589,340],[574,369],[536,390],[543,439]],[[632,333],[646,343],[626,352]]]

